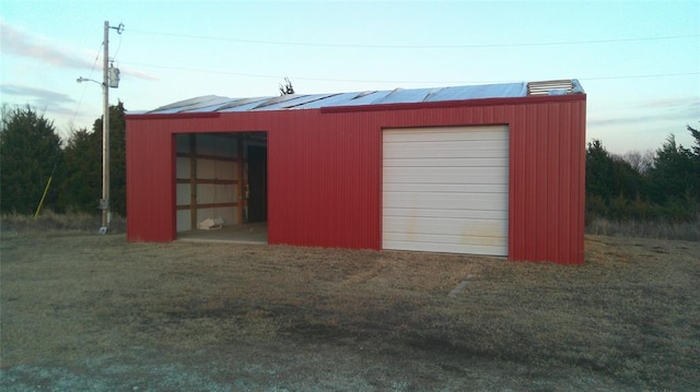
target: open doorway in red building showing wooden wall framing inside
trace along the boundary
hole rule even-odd
[[[177,239],[267,243],[267,132],[183,133],[175,146]]]

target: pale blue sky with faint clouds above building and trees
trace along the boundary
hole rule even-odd
[[[690,146],[700,127],[700,1],[0,0],[0,102],[62,135],[102,116],[104,22],[121,71],[110,104],[202,95],[578,79],[587,140],[612,153]]]

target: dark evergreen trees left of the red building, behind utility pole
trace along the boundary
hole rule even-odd
[[[126,122],[124,104],[109,107],[110,210],[126,216]],[[61,141],[54,121],[31,106],[2,107],[0,211],[34,214],[97,214],[102,198],[102,118],[92,130],[72,130]],[[47,185],[50,186],[47,189]]]

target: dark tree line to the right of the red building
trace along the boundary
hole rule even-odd
[[[700,215],[700,131],[684,147],[670,134],[655,152],[608,153],[599,140],[586,149],[586,219],[693,222]]]

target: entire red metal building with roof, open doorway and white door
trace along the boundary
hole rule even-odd
[[[127,238],[202,218],[268,242],[583,263],[575,80],[201,97],[127,116]]]

